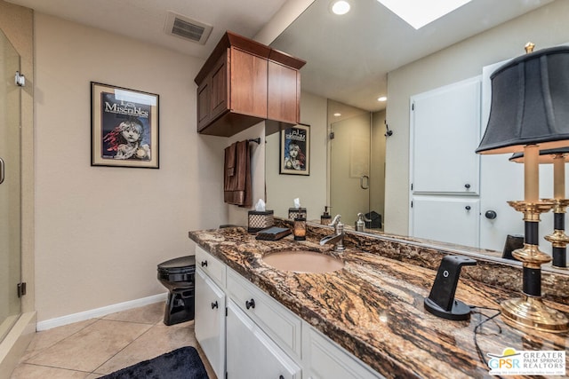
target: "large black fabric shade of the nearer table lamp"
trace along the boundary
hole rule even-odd
[[[491,80],[490,117],[478,154],[569,146],[569,46],[513,59]]]

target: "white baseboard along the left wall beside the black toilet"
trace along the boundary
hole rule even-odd
[[[37,322],[36,330],[39,332],[42,330],[61,327],[63,325],[73,324],[74,322],[95,319],[98,317],[106,316],[110,313],[126,311],[128,309],[137,308],[148,304],[163,302],[166,300],[167,296],[168,293],[164,292],[164,294],[143,297],[141,299],[131,300],[124,303],[112,304],[101,308],[92,309],[90,311],[68,314],[67,316],[57,317],[51,320],[39,321]]]

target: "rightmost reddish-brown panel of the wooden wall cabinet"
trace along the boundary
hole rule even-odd
[[[300,119],[300,74],[291,67],[268,61],[269,120],[298,123]]]

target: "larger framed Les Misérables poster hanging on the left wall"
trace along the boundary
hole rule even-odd
[[[91,82],[91,165],[158,169],[158,95]]]

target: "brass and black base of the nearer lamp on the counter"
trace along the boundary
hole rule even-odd
[[[508,201],[517,211],[524,213],[525,243],[523,249],[512,256],[524,266],[524,296],[501,304],[503,320],[511,327],[526,327],[547,332],[569,330],[569,320],[561,312],[549,308],[541,300],[541,265],[551,261],[538,246],[538,223],[540,214],[555,206],[554,201]]]

